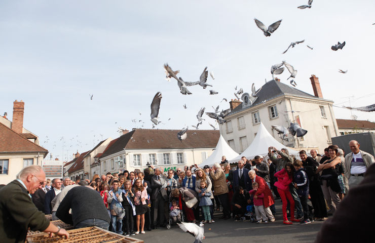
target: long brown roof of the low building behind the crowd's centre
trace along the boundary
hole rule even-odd
[[[101,157],[125,149],[189,149],[214,148],[219,140],[218,130],[187,130],[187,138],[179,141],[180,130],[136,129],[108,145]]]

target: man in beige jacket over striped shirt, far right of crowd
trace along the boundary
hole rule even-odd
[[[348,180],[348,189],[351,189],[363,180],[367,168],[375,163],[375,161],[371,154],[359,149],[360,144],[358,141],[351,140],[349,147],[352,152],[345,156],[344,171],[345,177]]]

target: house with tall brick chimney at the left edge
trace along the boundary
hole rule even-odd
[[[48,153],[39,138],[23,127],[24,105],[22,100],[13,102],[13,121],[0,116],[0,184],[16,179],[25,166],[41,166]]]

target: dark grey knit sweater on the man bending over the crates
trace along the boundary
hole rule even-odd
[[[69,214],[69,209],[71,209],[71,214]],[[73,226],[86,219],[102,219],[110,222],[103,199],[97,191],[86,186],[72,188],[61,201],[56,216]]]

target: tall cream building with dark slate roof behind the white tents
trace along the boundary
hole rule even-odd
[[[257,97],[244,93],[243,101],[232,100],[231,112],[225,117],[227,122],[219,125],[220,134],[236,152],[241,153],[255,138],[262,121],[273,137],[285,146],[322,151],[331,144],[331,137],[337,136],[339,131],[332,109],[333,101],[323,99],[318,77],[312,75],[310,80],[315,95],[290,87],[277,79],[263,85]],[[298,123],[308,133],[299,138],[289,133],[282,137],[271,127],[288,128],[290,123]]]

